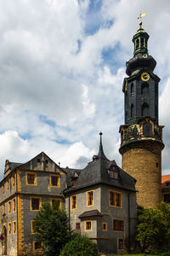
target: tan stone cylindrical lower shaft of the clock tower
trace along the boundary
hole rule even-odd
[[[161,202],[162,143],[139,141],[121,148],[122,170],[137,180],[137,202],[142,207],[156,207]]]

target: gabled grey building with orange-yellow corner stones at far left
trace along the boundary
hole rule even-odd
[[[33,218],[45,201],[57,201],[65,209],[66,188],[66,172],[43,152],[26,164],[6,160],[0,183],[0,255],[17,256],[41,247],[33,238]]]

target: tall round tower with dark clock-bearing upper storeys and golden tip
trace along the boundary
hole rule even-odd
[[[120,126],[122,170],[136,180],[137,202],[156,207],[161,201],[162,128],[158,122],[156,61],[148,55],[149,35],[139,23],[133,36],[133,58],[127,61],[123,81],[125,125]]]

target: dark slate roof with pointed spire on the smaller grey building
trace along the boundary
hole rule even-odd
[[[111,169],[113,168],[115,168],[114,172],[117,172],[117,179],[110,175]],[[99,154],[94,155],[93,161],[89,162],[88,166],[82,170],[77,178],[77,185],[67,191],[82,189],[99,183],[105,183],[120,189],[136,191],[135,182],[133,177],[128,175],[127,172],[122,171],[122,169],[116,165],[115,160],[111,161],[105,157],[100,134]]]

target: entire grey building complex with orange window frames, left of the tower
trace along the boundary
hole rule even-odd
[[[57,201],[71,230],[94,240],[104,253],[123,253],[134,239],[135,180],[105,157],[101,141],[99,154],[83,170],[60,168],[43,152],[26,164],[6,160],[0,191],[0,255],[41,250],[33,219],[45,201]]]

